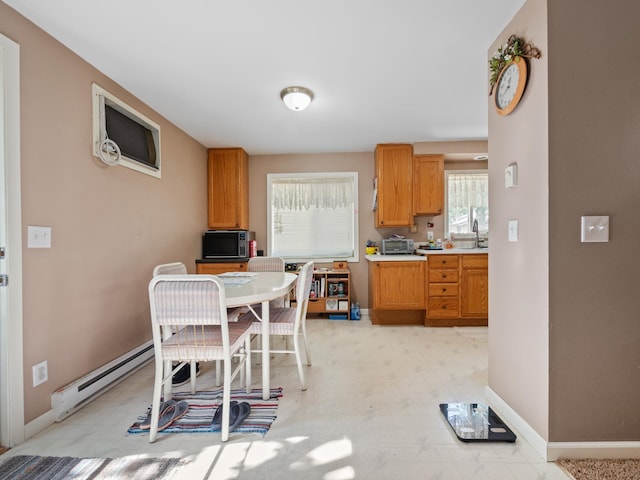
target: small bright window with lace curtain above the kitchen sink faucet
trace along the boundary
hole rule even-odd
[[[474,220],[481,234],[489,233],[489,174],[486,170],[445,172],[445,237],[472,233]]]

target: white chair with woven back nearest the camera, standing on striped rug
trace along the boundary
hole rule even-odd
[[[247,393],[251,391],[251,324],[230,321],[239,310],[227,313],[224,285],[215,275],[157,275],[149,283],[149,303],[156,362],[149,441],[158,434],[163,387],[166,402],[175,372],[185,362],[198,361],[222,361],[222,441],[227,441],[231,383],[239,372],[243,380],[246,370]],[[178,366],[173,368],[173,362]]]

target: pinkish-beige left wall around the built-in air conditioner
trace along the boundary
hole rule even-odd
[[[0,32],[20,45],[25,422],[51,393],[151,338],[153,266],[190,271],[206,229],[206,150],[0,2]],[[91,154],[91,83],[160,124],[162,179]],[[28,225],[51,249],[26,248]],[[32,365],[49,380],[32,387]],[[151,392],[149,392],[151,394]]]

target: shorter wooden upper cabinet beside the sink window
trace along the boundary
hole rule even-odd
[[[413,157],[413,214],[441,215],[444,209],[444,155]]]

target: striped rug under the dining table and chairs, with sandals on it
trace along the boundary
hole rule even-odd
[[[247,419],[236,428],[234,433],[255,433],[264,436],[271,428],[271,424],[276,419],[278,409],[278,399],[282,397],[282,388],[272,388],[269,400],[262,399],[262,389],[255,389],[247,393],[244,389],[232,390],[231,400],[238,402],[248,402],[251,405],[251,412]],[[189,403],[189,410],[186,415],[172,423],[159,434],[163,433],[208,433],[219,432],[220,428],[213,428],[211,421],[216,408],[222,403],[222,388],[211,392],[178,392],[173,393],[171,398],[176,401],[185,400]],[[129,427],[127,433],[149,434],[148,429],[141,429],[140,423],[145,420],[151,406],[140,415],[136,422]]]

